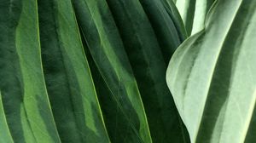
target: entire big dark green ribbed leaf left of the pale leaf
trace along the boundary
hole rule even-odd
[[[171,0],[3,0],[0,8],[4,142],[188,141],[165,82],[187,37]]]

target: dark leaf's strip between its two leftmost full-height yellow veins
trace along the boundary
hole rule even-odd
[[[45,81],[62,142],[108,143],[70,0],[39,0]]]

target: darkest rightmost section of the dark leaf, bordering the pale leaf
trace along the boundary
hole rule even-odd
[[[108,5],[142,94],[153,141],[185,142],[187,134],[165,82],[166,60],[181,41],[172,18],[160,1],[108,0]]]

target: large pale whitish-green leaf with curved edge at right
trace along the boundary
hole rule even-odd
[[[167,83],[192,142],[255,141],[256,3],[218,0],[177,49]]]

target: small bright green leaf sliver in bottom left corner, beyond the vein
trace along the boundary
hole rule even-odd
[[[13,143],[14,140],[9,132],[9,127],[6,122],[6,117],[3,110],[2,95],[0,92],[0,142]]]

